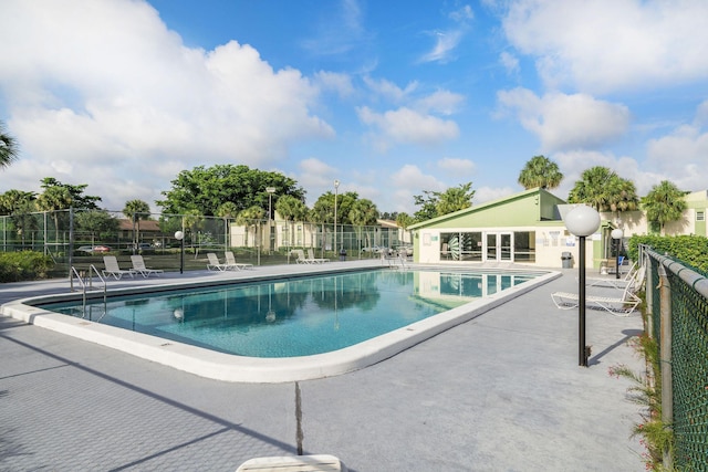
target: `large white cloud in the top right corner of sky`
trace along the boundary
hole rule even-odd
[[[646,90],[708,77],[708,2],[514,0],[503,29],[551,88]]]

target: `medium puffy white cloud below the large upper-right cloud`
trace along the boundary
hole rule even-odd
[[[603,146],[623,136],[629,126],[626,106],[586,94],[539,97],[529,90],[514,88],[499,92],[498,98],[540,138],[544,151]]]

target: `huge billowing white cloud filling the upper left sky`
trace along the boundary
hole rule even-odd
[[[122,208],[123,183],[132,198],[154,195],[166,168],[268,166],[293,143],[334,134],[312,115],[319,90],[300,72],[273,71],[235,41],[186,48],[143,1],[8,0],[2,9],[0,42],[12,53],[0,62],[0,91],[33,167],[8,168],[12,188],[54,176],[88,182],[88,193]]]

